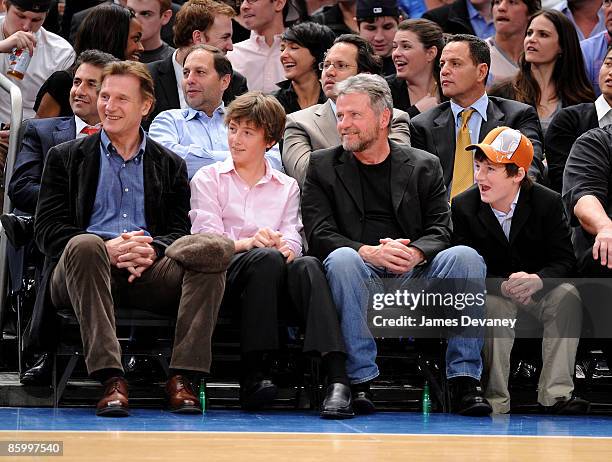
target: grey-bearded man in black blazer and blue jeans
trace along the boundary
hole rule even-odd
[[[375,410],[370,383],[378,367],[364,281],[450,278],[458,292],[483,293],[486,269],[472,249],[448,248],[450,210],[438,159],[388,140],[393,100],[385,80],[358,74],[337,89],[342,145],[312,153],[302,217],[309,252],[323,260],[340,312],[353,406],[365,414]],[[449,339],[454,412],[491,412],[479,383],[481,347],[482,338]]]

